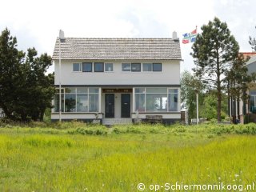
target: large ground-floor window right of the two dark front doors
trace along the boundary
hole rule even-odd
[[[135,110],[138,112],[178,111],[178,89],[135,88]]]

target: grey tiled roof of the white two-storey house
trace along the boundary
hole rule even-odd
[[[53,59],[58,59],[59,40]],[[178,39],[172,38],[65,38],[62,59],[181,60]]]

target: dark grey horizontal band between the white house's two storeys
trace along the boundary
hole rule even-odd
[[[120,87],[120,88],[133,88],[133,87],[181,87],[181,85],[62,85],[62,88],[65,87],[108,87],[108,88],[114,88],[114,87]],[[55,85],[55,87],[58,87],[58,85]]]

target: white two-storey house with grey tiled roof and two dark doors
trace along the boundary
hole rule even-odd
[[[65,38],[54,47],[56,95],[52,121],[180,121],[178,38]],[[61,77],[59,75],[61,74]]]

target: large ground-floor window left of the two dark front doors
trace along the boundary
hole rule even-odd
[[[62,112],[98,112],[99,89],[66,87],[62,91]],[[59,93],[54,98],[54,112],[59,112]]]

